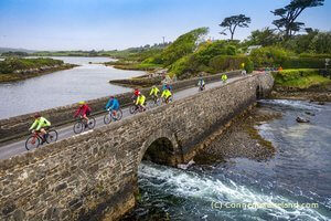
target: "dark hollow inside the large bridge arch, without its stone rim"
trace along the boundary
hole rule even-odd
[[[149,160],[159,165],[172,165],[174,147],[170,139],[160,137],[147,148],[142,160]]]

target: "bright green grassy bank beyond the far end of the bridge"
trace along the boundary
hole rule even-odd
[[[298,69],[284,70],[274,73],[275,84],[278,86],[308,88],[316,85],[330,84],[331,80],[319,75],[319,70]]]

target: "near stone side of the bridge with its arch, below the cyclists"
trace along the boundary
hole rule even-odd
[[[143,158],[186,162],[215,128],[268,93],[255,74],[0,162],[0,220],[116,220]]]

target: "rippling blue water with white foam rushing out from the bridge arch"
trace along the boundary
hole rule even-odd
[[[261,106],[284,114],[259,126],[260,135],[277,147],[276,157],[265,162],[236,158],[189,170],[143,162],[141,203],[128,220],[331,220],[331,104],[263,101]],[[297,116],[309,117],[311,124],[296,123]],[[220,209],[226,202],[273,208]],[[297,202],[319,208],[277,204]]]

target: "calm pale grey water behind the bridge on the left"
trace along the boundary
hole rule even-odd
[[[129,92],[130,88],[109,84],[109,80],[143,74],[138,71],[116,70],[103,64],[89,64],[110,61],[108,57],[53,59],[81,66],[18,83],[0,84],[0,118]]]

